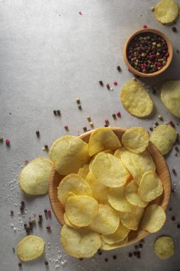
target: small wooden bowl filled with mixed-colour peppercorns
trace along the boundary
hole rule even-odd
[[[157,29],[140,29],[127,39],[124,59],[129,71],[141,77],[158,76],[169,67],[173,48]]]

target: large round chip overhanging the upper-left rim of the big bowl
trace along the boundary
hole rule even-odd
[[[90,160],[88,144],[76,136],[62,136],[55,140],[49,157],[60,175],[78,173]]]

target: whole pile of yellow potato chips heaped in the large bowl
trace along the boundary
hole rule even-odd
[[[146,150],[149,139],[144,128],[133,127],[121,140],[111,128],[92,131],[89,143],[75,136],[55,140],[49,155],[65,175],[58,199],[65,206],[61,244],[69,255],[92,257],[99,248],[126,245],[131,230],[157,232],[164,225],[164,210],[151,203],[163,185]]]

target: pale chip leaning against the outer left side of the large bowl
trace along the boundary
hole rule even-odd
[[[53,163],[45,158],[36,158],[21,170],[19,185],[28,195],[48,193],[48,180]]]

